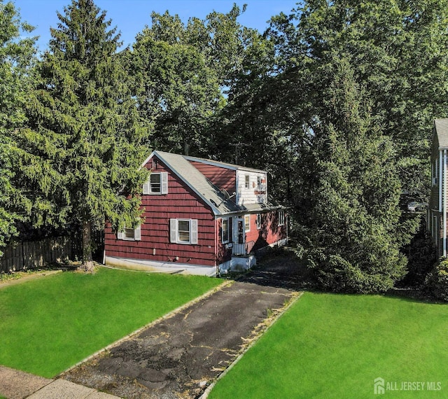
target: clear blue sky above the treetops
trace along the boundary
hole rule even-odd
[[[39,50],[43,51],[50,40],[50,27],[56,27],[56,11],[64,13],[64,6],[71,0],[12,0],[16,8],[20,8],[23,21],[34,25],[34,35],[40,36]],[[107,17],[112,25],[121,31],[121,39],[125,45],[134,42],[136,34],[146,25],[151,24],[151,12],[178,14],[186,22],[190,17],[205,18],[208,13],[216,10],[227,13],[233,3],[240,7],[247,4],[246,13],[241,15],[239,22],[246,27],[264,31],[267,20],[273,15],[288,14],[295,8],[297,0],[95,0],[102,10],[107,11]]]

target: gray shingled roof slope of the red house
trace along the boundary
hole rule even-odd
[[[188,159],[191,159],[192,157],[165,153],[163,151],[154,151],[152,155],[156,155],[162,162],[165,162],[167,167],[172,169],[172,171],[179,176],[187,186],[189,186],[209,205],[209,207],[211,207],[215,215],[225,215],[241,211],[262,211],[269,208],[279,207],[274,204],[251,204],[246,207],[238,206],[235,202],[225,197],[217,186],[211,183],[211,181],[199,172],[199,170],[191,165]],[[149,158],[151,158],[151,156]],[[146,160],[146,162],[147,161],[148,160]],[[232,166],[237,167],[237,165]]]

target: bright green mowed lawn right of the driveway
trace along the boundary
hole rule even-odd
[[[209,398],[448,398],[447,348],[447,304],[304,293]]]

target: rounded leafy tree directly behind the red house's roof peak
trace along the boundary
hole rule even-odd
[[[207,120],[221,102],[216,74],[195,46],[177,38],[160,40],[158,19],[180,25],[180,34],[185,30],[178,19],[153,14],[155,31],[144,29],[137,36],[127,57],[139,111],[154,126],[155,148],[188,154],[191,147],[196,153],[203,152]]]

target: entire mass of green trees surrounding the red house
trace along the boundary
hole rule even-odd
[[[400,203],[426,199],[433,119],[448,114],[447,0],[307,0],[263,34],[236,5],[186,23],[153,13],[120,53],[105,13],[72,0],[33,90],[18,83],[32,43],[0,6],[3,239],[26,187],[35,225],[83,228],[88,263],[104,218],[137,223],[157,148],[269,171],[321,287],[384,291],[405,274],[419,218]]]

